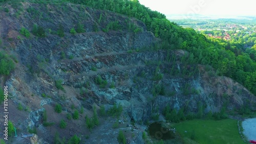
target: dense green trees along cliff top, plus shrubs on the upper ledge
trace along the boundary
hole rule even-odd
[[[2,1],[3,2],[3,1]],[[5,1],[4,1],[5,2]],[[206,39],[202,34],[197,34],[194,29],[183,29],[174,22],[166,19],[164,14],[157,11],[152,11],[149,8],[141,5],[139,1],[123,1],[123,0],[91,0],[91,1],[29,1],[39,4],[60,4],[60,3],[74,3],[89,6],[93,9],[101,9],[112,11],[135,17],[145,23],[148,31],[154,33],[156,37],[161,38],[162,42],[159,44],[159,49],[183,49],[191,54],[190,64],[209,64],[212,65],[220,76],[227,76],[239,83],[243,84],[254,95],[256,94],[256,62],[250,58],[247,53],[237,54],[230,49],[229,43],[219,39]],[[7,1],[7,3],[15,5],[14,1]],[[17,4],[15,5],[17,6]],[[98,22],[102,21],[100,15]],[[24,28],[23,28],[24,29]],[[122,30],[118,21],[112,21],[102,29],[104,32],[109,30]],[[130,28],[131,29],[131,28]],[[138,31],[133,28],[134,32]],[[139,30],[140,31],[140,30]],[[138,31],[138,32],[139,32]],[[21,31],[26,35],[25,31]],[[76,32],[84,32],[83,27],[78,23]],[[75,33],[74,30],[71,33]],[[44,37],[44,28],[34,26],[33,34]],[[63,27],[59,25],[57,34],[60,37],[65,36]],[[28,35],[28,34],[27,34]],[[27,36],[26,35],[26,36]],[[9,71],[3,72],[8,74]]]

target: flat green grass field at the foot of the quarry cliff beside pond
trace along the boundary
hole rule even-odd
[[[182,137],[191,138],[198,143],[244,143],[238,132],[238,121],[235,119],[223,119],[221,121],[194,119],[175,124],[175,129]],[[185,131],[187,131],[185,133]]]

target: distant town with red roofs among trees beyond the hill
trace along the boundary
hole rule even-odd
[[[193,28],[206,37],[239,43],[241,49],[251,48],[256,44],[256,17],[214,19],[213,17],[198,16],[193,19],[177,19],[176,16],[169,20],[183,28]]]

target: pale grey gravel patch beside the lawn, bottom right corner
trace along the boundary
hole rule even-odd
[[[248,118],[242,122],[244,135],[248,140],[256,140],[256,118]]]

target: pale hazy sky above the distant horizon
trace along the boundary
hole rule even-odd
[[[255,0],[139,0],[140,4],[167,14],[256,16]]]

